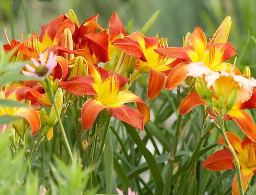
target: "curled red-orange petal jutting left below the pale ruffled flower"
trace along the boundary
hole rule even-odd
[[[198,105],[206,105],[206,103],[198,93],[191,93],[180,102],[179,113],[181,115],[187,114]]]

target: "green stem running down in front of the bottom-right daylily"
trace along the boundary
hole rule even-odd
[[[224,121],[224,116],[223,116],[223,113],[222,113],[222,109],[220,109],[219,115],[220,115],[219,116],[219,126],[220,126],[220,130],[221,130],[221,136],[223,137],[225,143],[227,144],[227,147],[230,150],[230,153],[233,155],[233,160],[234,160],[235,169],[236,169],[236,177],[237,177],[238,187],[239,187],[239,194],[244,195],[242,179],[241,179],[241,172],[240,172],[240,165],[239,165],[239,159],[236,155],[236,151],[234,150],[234,148],[230,144],[230,141],[228,140],[227,135],[225,133],[225,127],[224,127],[224,122],[223,122]]]

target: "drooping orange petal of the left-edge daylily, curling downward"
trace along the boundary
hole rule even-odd
[[[41,127],[40,117],[38,116],[36,111],[31,107],[19,107],[14,115],[21,116],[29,122],[32,136],[34,136]]]

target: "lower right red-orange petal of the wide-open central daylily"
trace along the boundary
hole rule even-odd
[[[107,109],[116,119],[126,122],[140,130],[144,130],[143,115],[138,109],[126,105],[108,107]]]

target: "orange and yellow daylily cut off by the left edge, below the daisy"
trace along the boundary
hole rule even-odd
[[[0,92],[1,99],[10,99],[17,102],[24,102],[25,99],[30,99],[31,102],[39,101],[39,94],[34,90],[28,88],[19,88],[15,90],[6,90]],[[41,95],[41,94],[40,94]],[[31,135],[35,135],[41,127],[41,120],[36,110],[32,107],[0,107],[0,116],[21,116],[26,119],[31,127]],[[13,125],[18,125],[17,121]],[[3,126],[1,127],[3,128]]]

